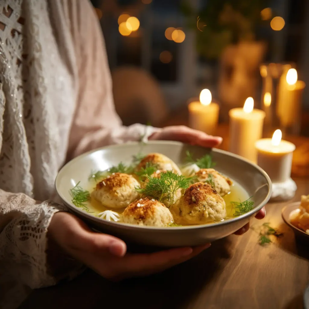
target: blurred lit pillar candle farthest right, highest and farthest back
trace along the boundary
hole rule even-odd
[[[288,70],[281,79],[280,95],[277,104],[277,114],[283,127],[293,127],[299,123],[303,90],[306,84],[298,80],[295,69]]]

